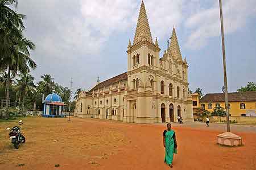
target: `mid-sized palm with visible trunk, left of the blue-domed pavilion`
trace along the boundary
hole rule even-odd
[[[16,79],[16,90],[22,98],[22,110],[24,110],[24,100],[26,96],[36,93],[34,81],[35,78],[31,74],[19,74],[19,79]]]

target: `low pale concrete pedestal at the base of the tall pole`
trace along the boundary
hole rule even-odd
[[[224,146],[242,146],[242,138],[232,132],[217,135],[217,143]]]

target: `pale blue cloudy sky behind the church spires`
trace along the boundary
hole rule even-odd
[[[256,82],[256,1],[222,1],[228,91]],[[218,0],[144,0],[152,38],[160,56],[175,26],[189,89],[219,93],[224,85]],[[36,44],[31,52],[36,81],[51,74],[55,82],[89,90],[127,71],[127,45],[133,43],[141,0],[23,0],[24,35]]]

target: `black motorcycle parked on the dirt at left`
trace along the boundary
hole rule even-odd
[[[19,121],[19,126],[22,125],[22,120]],[[14,126],[13,128],[11,128],[10,130],[10,127],[7,128],[7,130],[10,130],[10,133],[9,133],[9,137],[11,139],[11,143],[13,143],[13,146],[18,149],[19,148],[19,145],[21,143],[25,143],[26,142],[26,138],[25,138],[25,134],[22,134],[20,132],[20,128],[19,126]]]

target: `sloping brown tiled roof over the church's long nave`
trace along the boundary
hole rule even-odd
[[[111,84],[114,84],[115,82],[119,82],[122,80],[127,80],[127,72],[119,74],[118,76],[109,78],[108,80],[102,81],[100,84],[97,84],[94,86],[94,88],[90,89],[89,92],[92,92],[93,90],[104,88],[104,86],[110,86]]]

